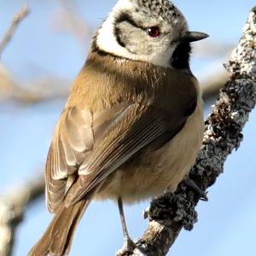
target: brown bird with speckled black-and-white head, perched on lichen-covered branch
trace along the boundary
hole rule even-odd
[[[201,148],[199,83],[189,31],[168,0],[119,0],[96,31],[73,82],[45,167],[54,218],[29,256],[67,255],[90,201],[117,202],[124,250],[136,247],[123,204],[175,191]]]

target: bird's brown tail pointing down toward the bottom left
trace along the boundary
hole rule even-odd
[[[89,203],[90,201],[79,201],[71,207],[62,206],[28,256],[67,255],[76,226]]]

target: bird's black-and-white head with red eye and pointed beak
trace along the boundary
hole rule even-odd
[[[160,67],[189,67],[190,43],[207,38],[189,32],[169,0],[119,0],[96,32],[98,50]]]

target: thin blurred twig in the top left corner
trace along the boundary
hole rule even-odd
[[[14,16],[11,26],[9,26],[9,29],[5,33],[3,40],[0,42],[0,57],[3,54],[3,49],[5,49],[6,45],[9,44],[9,41],[11,40],[11,38],[13,38],[17,26],[19,26],[20,22],[24,20],[28,14],[29,14],[29,9],[27,5],[25,5]]]

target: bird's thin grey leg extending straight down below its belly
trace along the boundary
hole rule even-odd
[[[121,224],[122,224],[122,229],[123,229],[123,234],[124,234],[124,247],[121,249],[121,251],[119,253],[121,254],[121,253],[125,253],[125,252],[133,252],[136,245],[135,245],[134,241],[131,240],[128,230],[127,230],[127,226],[125,223],[125,212],[124,212],[123,201],[122,201],[121,197],[119,197],[119,199],[118,199],[118,204],[119,204],[119,214],[120,214]]]

